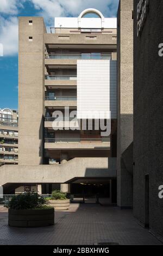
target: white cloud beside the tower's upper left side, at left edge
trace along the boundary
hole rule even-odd
[[[5,20],[0,17],[0,43],[3,44],[3,55],[11,56],[18,52],[18,19],[10,17]]]

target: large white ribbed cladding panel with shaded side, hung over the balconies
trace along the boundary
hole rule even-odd
[[[77,61],[77,117],[83,112],[111,111],[111,118],[117,113],[116,61]]]

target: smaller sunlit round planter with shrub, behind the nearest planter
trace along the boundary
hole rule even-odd
[[[68,210],[70,209],[70,200],[67,199],[66,193],[60,190],[54,190],[52,197],[48,198],[49,205],[53,206],[55,210]]]

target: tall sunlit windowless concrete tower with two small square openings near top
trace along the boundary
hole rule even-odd
[[[33,20],[29,26],[28,21]],[[44,35],[42,17],[19,19],[19,150],[18,164],[41,164],[44,102]],[[33,41],[29,41],[33,37]]]

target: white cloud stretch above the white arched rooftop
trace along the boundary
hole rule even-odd
[[[86,8],[95,8],[106,17],[116,16],[119,0],[30,0],[48,21],[58,16],[78,16]]]

